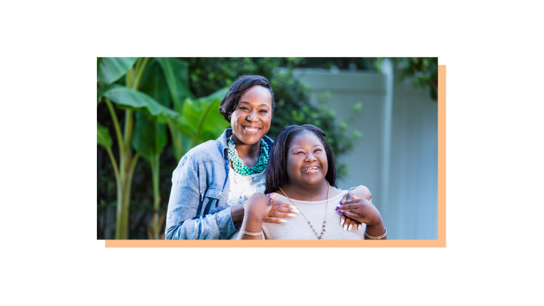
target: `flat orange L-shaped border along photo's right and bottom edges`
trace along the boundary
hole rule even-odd
[[[445,248],[446,65],[438,66],[438,239],[436,240],[106,240],[106,248]]]

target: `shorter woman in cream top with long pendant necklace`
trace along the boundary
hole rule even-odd
[[[255,193],[244,203],[238,239],[387,239],[368,189],[336,188],[334,156],[321,129],[287,126],[277,135],[269,159],[266,194]],[[300,213],[284,224],[263,224],[274,201],[291,204]],[[346,231],[336,224],[339,214],[362,225]]]

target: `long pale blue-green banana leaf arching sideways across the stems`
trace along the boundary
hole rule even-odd
[[[179,115],[177,111],[163,106],[146,93],[118,84],[107,86],[102,91],[102,96],[111,99],[118,106],[124,106],[124,108],[146,110],[150,115],[157,116],[161,122],[164,121],[165,116],[174,119]]]

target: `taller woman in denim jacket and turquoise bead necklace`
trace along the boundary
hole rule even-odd
[[[231,128],[192,148],[174,170],[166,239],[229,239],[236,232],[245,199],[265,189],[264,169],[273,144],[265,135],[274,108],[266,78],[244,75],[230,86],[219,111]],[[262,222],[286,222],[297,212],[274,202]]]

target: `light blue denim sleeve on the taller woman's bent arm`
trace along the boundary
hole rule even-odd
[[[166,239],[228,239],[236,231],[230,208],[197,217],[200,204],[199,176],[185,155],[172,175]]]

